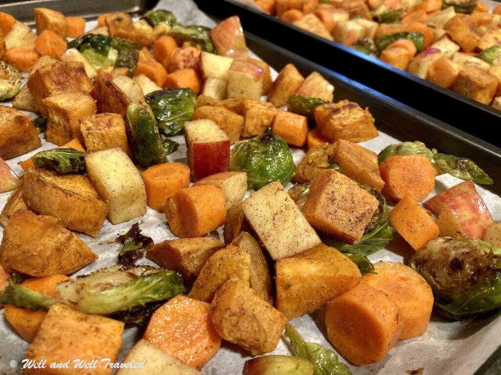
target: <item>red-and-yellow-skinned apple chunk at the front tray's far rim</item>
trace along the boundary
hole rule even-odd
[[[230,49],[247,48],[240,18],[237,15],[219,22],[217,26],[210,30],[210,38],[220,55],[225,55]]]

